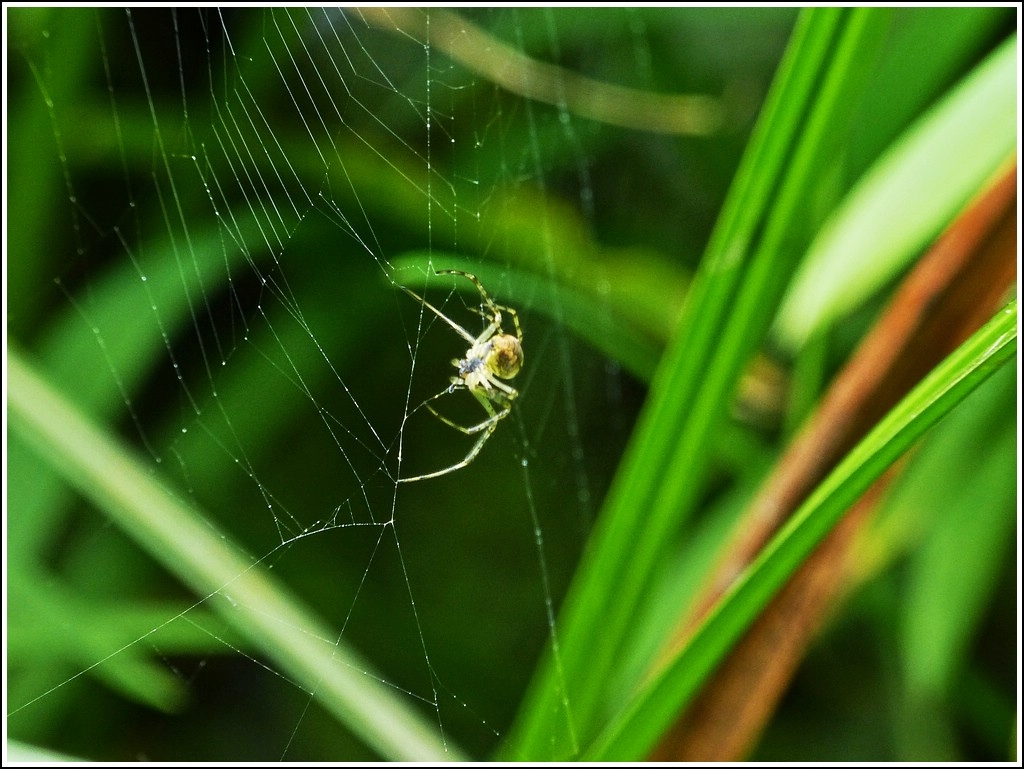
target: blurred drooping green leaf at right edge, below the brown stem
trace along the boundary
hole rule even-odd
[[[959,429],[937,435],[942,440],[930,440],[915,458],[925,472],[901,495],[900,506],[930,528],[905,568],[900,648],[913,696],[937,700],[950,690],[1012,557],[1019,433],[1009,417],[1016,391],[1016,372],[1005,369],[965,403],[970,411],[950,415],[947,422],[966,412]],[[972,468],[966,478],[957,472],[965,456]]]

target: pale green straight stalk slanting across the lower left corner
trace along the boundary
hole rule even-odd
[[[381,755],[458,759],[435,729],[393,696],[336,633],[310,616],[257,563],[228,545],[208,518],[160,485],[143,464],[8,351],[11,426],[67,480],[154,558],[191,587],[240,634],[301,682]]]

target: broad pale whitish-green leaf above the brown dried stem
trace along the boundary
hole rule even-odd
[[[1012,37],[879,159],[811,246],[779,312],[791,348],[849,312],[941,231],[1017,147]],[[927,206],[907,205],[927,200]],[[877,232],[865,254],[865,232]]]

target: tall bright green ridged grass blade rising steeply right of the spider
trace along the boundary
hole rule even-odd
[[[802,17],[562,610],[560,653],[535,679],[506,755],[574,755],[612,707],[604,687],[616,656],[695,508],[707,446],[799,258],[793,240],[806,228],[807,190],[887,23],[871,10]]]

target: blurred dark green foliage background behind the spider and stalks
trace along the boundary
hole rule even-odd
[[[344,628],[438,732],[486,757],[549,640],[547,602],[557,610],[601,509],[797,11],[465,11],[566,72],[711,97],[718,122],[699,135],[498,87],[449,47],[442,17],[431,32],[415,11],[390,29],[338,9],[5,13],[8,344]],[[1007,8],[893,12],[842,153],[810,190],[806,242],[1014,27]],[[556,95],[559,82],[574,81]],[[464,345],[395,284],[478,323],[466,286],[426,280],[428,259],[516,307],[526,365],[470,467],[396,486],[399,470],[468,448],[429,419],[403,429]],[[677,548],[685,580],[802,416],[777,383],[803,355],[826,381],[891,283],[880,274],[813,344],[766,349],[752,381],[768,395],[741,401],[709,447],[706,512]],[[753,758],[1007,759],[1014,374],[929,439]],[[452,405],[467,422],[473,408]],[[986,458],[982,480],[964,455]],[[11,738],[97,761],[375,757],[14,432],[7,463]],[[961,538],[972,579],[936,604],[956,587],[943,580]]]

